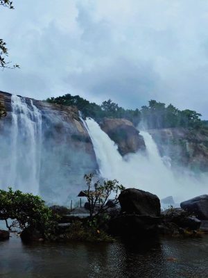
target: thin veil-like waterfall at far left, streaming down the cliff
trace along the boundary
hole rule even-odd
[[[12,95],[10,132],[1,145],[0,188],[8,186],[38,194],[40,179],[42,114],[32,100]],[[6,156],[7,154],[7,156]]]

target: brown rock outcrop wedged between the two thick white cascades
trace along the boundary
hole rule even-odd
[[[118,145],[122,156],[145,149],[144,138],[132,122],[125,119],[104,118],[100,123],[101,129]]]

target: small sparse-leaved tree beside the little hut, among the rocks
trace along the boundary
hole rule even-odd
[[[125,188],[119,184],[116,179],[93,182],[94,174],[85,174],[84,179],[87,183],[87,201],[89,203],[89,219],[96,215],[103,213],[108,207],[106,207],[107,199],[112,193],[114,193],[115,204],[119,203],[118,196]],[[95,213],[96,205],[99,204],[98,211]]]

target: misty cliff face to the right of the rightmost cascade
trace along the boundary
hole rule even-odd
[[[169,156],[173,166],[208,171],[208,131],[183,128],[151,129],[161,156]]]

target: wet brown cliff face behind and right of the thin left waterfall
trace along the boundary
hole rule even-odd
[[[25,98],[25,100],[28,106],[31,105],[31,99]],[[3,150],[1,152],[0,147],[0,152],[12,156],[10,145],[13,139],[10,134],[14,126],[11,95],[0,92],[0,102],[7,111],[6,117],[0,120],[0,137],[1,142],[4,142]],[[80,189],[85,188],[84,174],[98,170],[92,141],[76,107],[48,104],[35,99],[33,104],[42,115],[40,193],[48,201],[69,202],[76,197]],[[26,152],[24,140],[23,134],[21,140],[17,142],[18,152],[21,149],[21,154]],[[22,159],[24,165],[24,157]],[[19,167],[17,172],[21,172],[20,165],[17,167]],[[24,177],[24,173],[22,176]],[[6,181],[7,179],[4,182]]]

